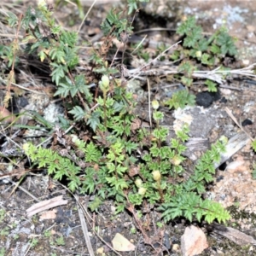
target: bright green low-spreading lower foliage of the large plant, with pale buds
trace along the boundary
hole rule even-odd
[[[159,121],[163,113],[154,112],[154,119]],[[136,151],[139,143],[125,142],[119,137],[109,135],[108,154],[94,143],[84,143],[77,136],[72,136],[73,152],[81,152],[84,158],[71,157],[74,153],[59,154],[46,148],[37,148],[27,143],[24,145],[26,154],[39,167],[47,167],[49,174],[56,179],[67,177],[68,187],[79,193],[96,195],[90,204],[96,210],[106,198],[114,198],[117,212],[125,210],[126,195],[134,206],[142,206],[144,201],[154,206],[160,204],[166,221],[177,217],[201,220],[209,223],[215,218],[219,222],[230,218],[229,213],[217,202],[203,200],[206,183],[213,180],[214,163],[224,152],[224,143],[212,145],[211,150],[201,157],[195,166],[195,172],[188,180],[183,179],[182,153],[186,149],[183,143],[188,140],[187,125],[177,131],[177,138],[172,138],[171,147],[163,146],[168,131],[164,127],[155,128],[151,139],[153,143],[148,154],[143,155],[143,162],[138,165],[137,173],[131,172],[137,159],[131,154]],[[147,131],[139,131],[148,137]],[[142,137],[141,137],[142,138]],[[61,154],[61,155],[60,155]]]

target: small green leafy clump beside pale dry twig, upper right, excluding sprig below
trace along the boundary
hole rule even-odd
[[[183,73],[181,82],[186,86],[193,83],[192,74],[198,66],[195,63],[205,67],[218,67],[226,55],[234,57],[237,53],[234,38],[230,37],[225,27],[207,38],[203,35],[201,26],[196,24],[195,17],[189,17],[178,26],[177,34],[183,37],[183,44],[173,52],[171,58],[177,60],[183,56],[178,71]],[[205,84],[209,91],[217,91],[217,84],[212,80],[206,79]]]

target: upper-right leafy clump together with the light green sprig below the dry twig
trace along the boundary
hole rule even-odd
[[[172,52],[169,57],[172,61],[180,61],[177,67],[177,79],[187,88],[193,84],[193,74],[198,67],[206,70],[218,67],[218,71],[228,71],[222,62],[227,55],[235,57],[237,50],[234,38],[230,37],[227,29],[223,26],[212,36],[206,37],[202,27],[196,24],[195,17],[189,17],[177,27],[177,34],[183,37],[183,42]],[[224,77],[224,75],[222,75]],[[218,80],[216,76],[208,76],[204,84],[208,91],[216,92]],[[172,98],[165,102],[169,108],[184,108],[185,105],[195,105],[195,96],[189,94],[189,90],[178,90],[173,93]]]

